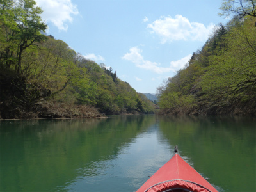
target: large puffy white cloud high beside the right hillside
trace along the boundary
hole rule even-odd
[[[207,40],[214,28],[214,24],[205,27],[198,22],[189,22],[186,17],[176,15],[175,18],[162,16],[147,28],[152,29],[151,33],[159,35],[161,43],[172,42],[173,40]]]

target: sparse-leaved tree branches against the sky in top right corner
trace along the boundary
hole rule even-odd
[[[238,19],[244,16],[256,17],[256,0],[223,0],[221,4],[221,16],[236,16]]]

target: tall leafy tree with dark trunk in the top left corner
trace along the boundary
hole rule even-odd
[[[28,47],[37,48],[36,42],[45,40],[47,25],[42,22],[42,10],[34,0],[1,0],[1,49],[0,60],[6,67],[15,63],[15,71],[20,74],[22,54]]]

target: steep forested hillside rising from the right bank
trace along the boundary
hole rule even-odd
[[[162,114],[256,115],[256,3],[240,2],[225,1],[223,14],[234,19],[157,88]]]

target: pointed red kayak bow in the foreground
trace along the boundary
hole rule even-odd
[[[177,147],[172,159],[157,170],[136,192],[166,191],[218,192],[177,154]]]

